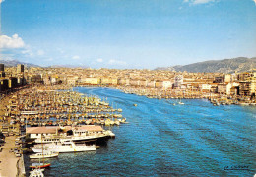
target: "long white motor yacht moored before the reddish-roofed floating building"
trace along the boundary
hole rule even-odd
[[[42,152],[42,145],[35,145],[31,147],[32,151],[35,153]],[[61,141],[51,144],[43,145],[43,148],[47,151],[55,151],[55,152],[79,152],[79,151],[95,151],[96,145],[86,145],[85,143],[75,143],[73,141]]]

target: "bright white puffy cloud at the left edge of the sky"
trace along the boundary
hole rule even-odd
[[[3,2],[3,1],[2,1]],[[14,34],[12,37],[7,35],[0,35],[0,48],[23,48],[25,43],[18,34]]]

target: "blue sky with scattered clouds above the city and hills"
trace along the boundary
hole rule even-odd
[[[0,59],[155,69],[256,56],[256,0],[0,0]]]

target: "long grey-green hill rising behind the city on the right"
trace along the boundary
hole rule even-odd
[[[176,65],[172,67],[160,67],[155,70],[167,70],[176,72],[191,72],[191,73],[234,73],[249,71],[251,68],[256,68],[256,58],[239,57],[224,60],[210,60],[198,62],[189,65]]]

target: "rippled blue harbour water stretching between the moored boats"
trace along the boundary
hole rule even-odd
[[[49,159],[45,176],[253,176],[256,107],[204,99],[149,99],[110,88],[77,88],[107,97],[128,124],[95,152]],[[172,103],[176,102],[173,106]],[[137,104],[135,107],[133,104]],[[105,128],[109,129],[109,128]],[[32,163],[26,156],[26,166]]]

